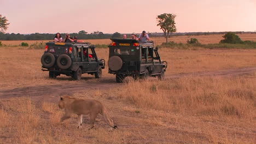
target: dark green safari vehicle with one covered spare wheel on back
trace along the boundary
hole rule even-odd
[[[147,79],[149,76],[163,80],[167,62],[161,61],[158,47],[154,49],[153,41],[139,43],[134,39],[110,39],[108,73],[115,74],[118,83],[126,76]]]

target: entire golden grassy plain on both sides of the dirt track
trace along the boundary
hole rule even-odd
[[[195,38],[217,43],[221,36]],[[255,41],[255,35],[249,36],[240,35],[242,40]],[[175,38],[177,43],[185,43],[187,39],[187,36]],[[91,43],[109,41],[91,40]],[[161,44],[165,39],[155,41]],[[21,41],[8,43],[3,41],[9,46],[2,46],[0,53],[0,93],[17,87],[97,82],[94,76],[86,74],[80,81],[67,76],[50,80],[48,73],[40,70],[43,50],[11,46]],[[107,61],[108,49],[97,49],[97,52]],[[168,62],[166,76],[256,67],[256,50],[161,48],[159,53]],[[102,79],[114,82],[107,69],[103,70]],[[165,81],[131,80],[116,88],[74,92],[74,97],[97,99],[106,105],[119,127],[112,132],[101,116],[96,119],[96,129],[90,131],[86,116],[82,130],[76,129],[77,116],[61,124],[58,98],[35,101],[27,97],[29,93],[19,98],[13,95],[0,100],[0,143],[255,143],[255,81],[256,73],[234,77],[186,76]]]

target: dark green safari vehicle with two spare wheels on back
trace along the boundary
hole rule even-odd
[[[41,63],[51,79],[63,74],[80,80],[84,73],[100,79],[105,66],[105,60],[97,57],[90,43],[46,43]]]

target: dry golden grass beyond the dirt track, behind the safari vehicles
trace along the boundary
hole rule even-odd
[[[0,86],[2,88],[77,83],[71,77],[58,76],[59,81],[50,80],[48,72],[42,71],[40,57],[43,50],[29,50],[24,47],[1,47],[0,53]],[[166,75],[210,71],[240,67],[254,67],[256,50],[159,50],[162,60],[168,62]],[[97,49],[97,55],[108,61],[108,49]],[[108,67],[102,71],[103,77],[114,79],[108,74]],[[84,74],[82,81],[93,81],[94,76]]]

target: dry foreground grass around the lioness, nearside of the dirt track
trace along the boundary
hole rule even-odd
[[[104,101],[119,127],[113,132],[101,116],[90,131],[87,116],[81,130],[76,128],[75,115],[61,124],[62,111],[56,103],[1,100],[0,139],[4,143],[254,143],[255,80],[255,75],[184,77],[73,94]]]

